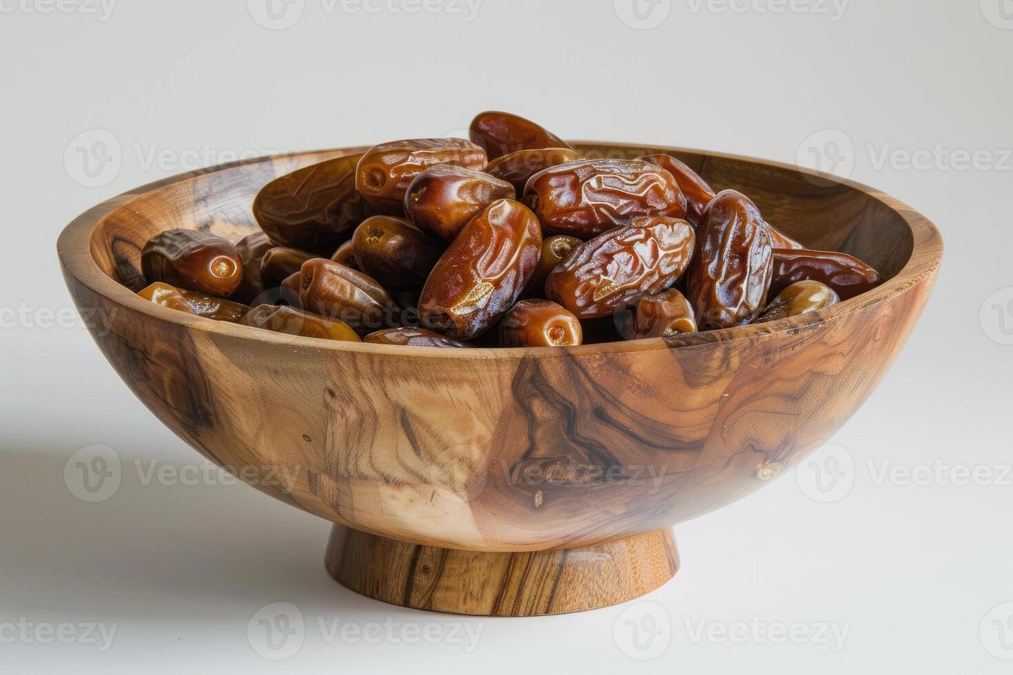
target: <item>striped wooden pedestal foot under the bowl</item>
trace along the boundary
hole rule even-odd
[[[485,553],[405,543],[334,525],[327,572],[357,593],[402,607],[538,616],[619,604],[679,570],[671,529],[577,549]]]

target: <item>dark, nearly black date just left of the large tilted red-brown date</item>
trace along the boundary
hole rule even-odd
[[[425,283],[443,246],[404,219],[374,216],[356,228],[352,250],[357,267],[387,290],[413,290]]]

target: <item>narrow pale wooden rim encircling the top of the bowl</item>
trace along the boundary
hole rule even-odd
[[[131,201],[142,195],[175,183],[193,181],[206,174],[231,170],[250,164],[259,164],[263,162],[284,160],[286,158],[297,158],[311,155],[333,154],[335,157],[338,157],[340,156],[338,153],[361,153],[368,150],[371,146],[354,146],[334,148],[330,150],[306,150],[265,155],[187,171],[141,185],[95,204],[71,221],[70,224],[68,224],[60,233],[57,240],[57,254],[60,258],[61,265],[66,276],[73,278],[78,283],[86,286],[106,302],[111,303],[116,307],[146,315],[152,319],[175,324],[182,328],[214,333],[228,338],[274,343],[290,348],[301,347],[319,351],[347,351],[390,356],[440,357],[454,359],[519,359],[530,356],[580,356],[619,352],[653,351],[657,349],[671,350],[678,348],[691,348],[698,345],[718,342],[732,342],[736,340],[758,338],[766,335],[777,335],[791,331],[797,332],[801,329],[811,328],[829,321],[843,319],[850,314],[903,294],[913,287],[917,281],[921,281],[926,277],[934,276],[942,260],[942,236],[932,222],[911,206],[890,196],[889,194],[850,179],[828,176],[811,169],[783,162],[694,148],[658,146],[654,144],[639,143],[614,143],[606,141],[568,141],[568,143],[576,148],[581,146],[591,146],[626,150],[650,149],[663,153],[673,152],[696,154],[704,157],[742,161],[793,171],[810,176],[813,179],[820,180],[831,186],[844,185],[852,189],[859,190],[869,197],[879,201],[882,205],[901,217],[901,219],[907,224],[912,234],[913,245],[911,256],[905,263],[904,267],[893,277],[887,279],[884,283],[873,288],[872,290],[842,302],[829,308],[828,310],[796,317],[788,317],[786,319],[779,319],[769,323],[736,326],[734,328],[693,333],[673,338],[620,340],[568,347],[483,346],[447,349],[440,347],[412,347],[405,345],[373,344],[367,342],[343,342],[322,338],[294,336],[188,315],[166,307],[155,305],[154,303],[150,303],[140,298],[127,286],[108,277],[98,267],[98,264],[91,255],[91,239],[95,230],[101,225],[102,221],[119,208],[129,207]]]

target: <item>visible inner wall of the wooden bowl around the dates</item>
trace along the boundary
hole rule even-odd
[[[870,194],[830,184],[789,167],[693,151],[575,143],[589,156],[634,158],[671,152],[716,190],[749,195],[771,224],[810,248],[842,251],[891,278],[911,258],[914,239],[904,218]],[[250,204],[274,178],[365,148],[263,158],[171,182],[125,201],[105,216],[90,240],[91,255],[110,278],[132,290],[146,285],[141,250],[156,234],[174,228],[212,232],[237,242],[257,229]]]

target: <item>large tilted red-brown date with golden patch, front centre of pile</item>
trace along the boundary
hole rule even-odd
[[[494,201],[464,227],[430,274],[418,302],[422,325],[469,340],[517,302],[538,265],[538,219],[513,199]]]

